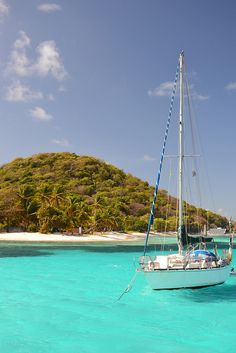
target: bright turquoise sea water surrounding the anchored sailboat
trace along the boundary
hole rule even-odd
[[[141,249],[1,245],[0,352],[235,352],[236,277],[152,291],[138,274],[116,301]]]

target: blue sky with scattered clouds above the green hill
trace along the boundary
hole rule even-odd
[[[236,219],[235,17],[234,0],[0,0],[0,163],[70,151],[154,185],[184,50],[202,206]]]

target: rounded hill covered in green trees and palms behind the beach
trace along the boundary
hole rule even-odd
[[[153,187],[97,158],[42,153],[0,168],[0,228],[27,231],[145,231]],[[185,204],[190,232],[227,219]],[[167,215],[167,220],[166,220]],[[175,230],[176,198],[161,190],[155,229]]]

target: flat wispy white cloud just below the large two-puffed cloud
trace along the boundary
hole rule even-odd
[[[5,96],[5,99],[9,102],[29,102],[42,98],[42,92],[32,91],[28,86],[21,84],[20,81],[16,81],[9,86]]]

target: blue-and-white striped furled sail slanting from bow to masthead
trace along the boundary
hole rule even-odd
[[[175,99],[175,92],[176,92],[178,76],[179,76],[179,62],[178,62],[177,70],[176,70],[176,74],[175,74],[175,81],[174,81],[174,86],[173,86],[172,95],[171,95],[170,110],[169,110],[167,124],[166,124],[165,137],[164,137],[162,153],[161,153],[161,158],[160,158],[160,165],[159,165],[159,170],[158,170],[158,174],[157,174],[156,185],[155,185],[155,189],[154,189],[154,197],[153,197],[153,202],[152,202],[152,208],[151,208],[151,213],[150,213],[149,222],[148,222],[146,241],[145,241],[144,251],[143,251],[144,256],[146,255],[146,251],[147,251],[148,238],[149,238],[151,225],[153,224],[153,221],[154,221],[154,209],[155,209],[157,192],[158,192],[159,183],[160,183],[163,158],[164,158],[164,154],[165,154],[166,141],[167,141],[167,136],[168,136],[169,127],[170,127],[170,120],[171,120],[171,115],[172,115],[172,110],[173,110],[173,104],[174,104],[174,99]]]

